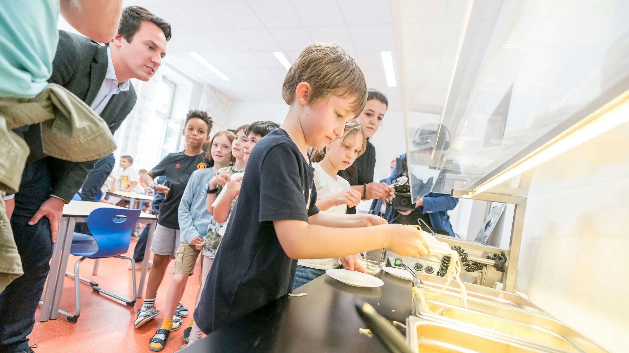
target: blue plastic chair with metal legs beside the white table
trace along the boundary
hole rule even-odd
[[[135,268],[135,260],[130,256],[124,255],[131,244],[131,232],[135,228],[135,224],[140,218],[140,210],[128,209],[111,209],[103,207],[90,212],[87,216],[87,228],[92,235],[75,232],[72,236],[72,246],[70,246],[70,254],[81,256],[81,259],[74,264],[74,274],[65,273],[70,277],[74,277],[74,289],[76,298],[76,313],[59,312],[68,318],[70,322],[77,322],[81,315],[81,302],[79,301],[79,281],[84,281],[92,286],[92,290],[96,293],[103,293],[116,300],[123,301],[128,307],[135,305],[137,290],[135,283],[135,271],[131,271],[133,278],[133,296],[131,300],[122,298],[121,296],[109,293],[98,287],[98,283],[81,278],[79,276],[79,265],[84,259],[101,259],[101,258],[121,258],[131,261],[131,268]]]

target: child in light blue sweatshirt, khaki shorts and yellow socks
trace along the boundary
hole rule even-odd
[[[208,212],[208,207],[206,207],[205,186],[208,180],[214,177],[217,170],[233,165],[233,157],[231,156],[233,139],[234,134],[230,131],[220,131],[213,136],[208,144],[209,151],[206,149],[206,159],[211,168],[195,170],[190,176],[190,180],[188,180],[184,194],[181,197],[181,202],[179,203],[181,242],[179,242],[177,253],[175,254],[174,274],[166,298],[165,319],[161,329],[172,332],[181,328],[181,318],[175,315],[175,310],[186,289],[188,277],[194,273],[194,265],[199,258],[199,253],[203,247],[203,239],[206,236],[209,221],[212,217]],[[172,318],[172,321],[166,318]],[[187,329],[184,330],[184,340],[186,342],[192,330],[192,321],[190,321]],[[167,339],[168,337],[166,337],[165,341]],[[159,351],[164,349],[164,346],[165,342],[151,342],[149,349]]]

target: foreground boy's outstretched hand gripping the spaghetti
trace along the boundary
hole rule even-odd
[[[430,247],[428,246],[430,234],[401,224],[391,224],[387,228],[389,231],[387,247],[392,252],[414,258],[421,258],[421,256],[430,254]]]

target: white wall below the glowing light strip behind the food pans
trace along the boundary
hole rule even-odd
[[[629,123],[535,169],[516,288],[613,352],[629,352]]]

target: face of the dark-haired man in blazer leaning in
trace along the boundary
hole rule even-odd
[[[166,55],[164,31],[149,21],[142,22],[140,29],[131,38],[131,43],[119,34],[110,45],[119,48],[125,71],[131,77],[142,81],[148,81],[153,77]]]

